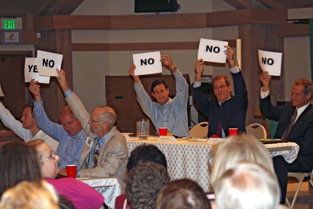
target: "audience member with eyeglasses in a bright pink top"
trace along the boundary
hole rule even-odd
[[[68,198],[77,209],[99,209],[104,197],[87,184],[72,177],[55,179],[59,172],[59,156],[43,140],[37,139],[27,143],[37,153],[43,178],[54,186],[56,191]]]

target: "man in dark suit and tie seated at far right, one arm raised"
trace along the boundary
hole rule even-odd
[[[285,203],[288,172],[312,172],[313,169],[313,85],[308,79],[300,78],[291,91],[291,103],[284,107],[271,104],[269,84],[271,76],[263,72],[260,81],[260,110],[263,116],[278,121],[275,138],[297,143],[300,146],[298,157],[288,163],[282,156],[273,158],[274,169],[281,187],[281,204]]]

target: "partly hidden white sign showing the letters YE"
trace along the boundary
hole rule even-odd
[[[25,83],[30,82],[32,79],[42,84],[49,84],[49,76],[39,76],[38,68],[36,65],[37,58],[25,58],[24,77]]]

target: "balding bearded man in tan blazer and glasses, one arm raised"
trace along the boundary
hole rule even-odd
[[[57,70],[58,82],[65,100],[80,121],[89,138],[82,149],[78,171],[80,177],[113,177],[125,189],[128,148],[125,137],[114,128],[116,113],[109,106],[99,106],[89,114],[79,98],[70,89],[66,73]]]

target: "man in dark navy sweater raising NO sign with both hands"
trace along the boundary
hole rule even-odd
[[[238,128],[238,132],[245,132],[247,89],[242,73],[233,59],[234,51],[230,46],[225,47],[227,50],[224,52],[234,79],[235,96],[231,96],[230,79],[226,76],[216,76],[213,79],[213,90],[217,100],[205,98],[201,88],[204,61],[200,59],[195,64],[196,76],[192,85],[192,99],[197,108],[208,117],[208,137],[218,135],[220,138],[225,138],[229,135],[229,128]]]

